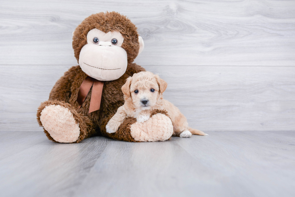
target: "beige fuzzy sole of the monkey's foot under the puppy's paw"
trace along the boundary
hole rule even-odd
[[[170,118],[157,113],[145,122],[135,122],[130,127],[130,134],[136,141],[155,142],[168,140],[173,133]]]

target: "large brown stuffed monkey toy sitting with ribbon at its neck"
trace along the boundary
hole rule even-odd
[[[92,14],[73,32],[78,66],[71,67],[41,103],[37,120],[49,140],[79,143],[95,135],[131,142],[163,141],[173,133],[166,111],[155,110],[144,123],[126,118],[116,133],[106,124],[123,105],[121,87],[145,69],[132,63],[144,48],[136,26],[117,12]]]

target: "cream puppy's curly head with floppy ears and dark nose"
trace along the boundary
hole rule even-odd
[[[166,90],[167,83],[152,72],[142,71],[127,78],[122,86],[125,100],[132,101],[136,109],[150,109]]]

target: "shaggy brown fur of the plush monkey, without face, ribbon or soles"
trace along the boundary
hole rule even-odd
[[[39,106],[37,111],[37,120],[39,125],[42,126],[40,121],[42,109],[48,105],[61,105],[68,108],[70,112],[73,113],[73,117],[76,122],[79,123],[80,136],[76,143],[87,137],[98,134],[103,134],[104,136],[112,137],[118,140],[132,141],[133,138],[130,139],[128,134],[123,136],[122,132],[125,128],[130,128],[130,124],[132,124],[133,120],[130,119],[129,122],[126,121],[126,126],[125,128],[122,126],[121,133],[118,132],[112,135],[105,132],[104,123],[107,123],[111,117],[110,115],[115,114],[116,110],[123,105],[124,99],[121,87],[125,84],[126,79],[134,73],[145,70],[141,66],[132,63],[139,50],[136,27],[128,18],[116,12],[91,15],[76,28],[73,35],[73,49],[75,57],[78,61],[81,48],[87,42],[86,35],[88,31],[94,28],[105,33],[109,31],[119,31],[123,35],[124,42],[122,48],[126,50],[128,58],[128,66],[125,74],[116,80],[104,82],[100,109],[95,112],[88,113],[92,89],[89,91],[89,94],[80,108],[76,101],[80,85],[87,75],[82,71],[80,66],[71,67],[52,88],[49,94],[49,100],[41,103]],[[45,129],[44,132],[49,140],[54,141]]]

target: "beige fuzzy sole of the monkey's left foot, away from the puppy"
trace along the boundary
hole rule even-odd
[[[71,143],[78,140],[80,135],[79,123],[66,107],[61,105],[46,106],[40,116],[42,126],[57,142]]]

